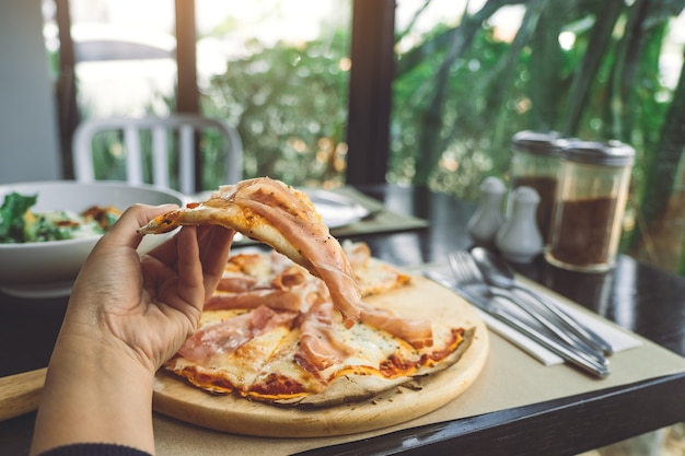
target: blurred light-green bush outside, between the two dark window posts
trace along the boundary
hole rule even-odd
[[[211,81],[204,112],[236,126],[246,177],[344,183],[349,31],[334,32],[298,45],[253,43]]]

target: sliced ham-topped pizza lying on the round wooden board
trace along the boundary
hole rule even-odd
[[[344,244],[362,297],[410,285],[410,277]],[[346,327],[325,283],[271,252],[239,253],[227,265],[199,328],[164,369],[207,393],[283,406],[333,407],[411,388],[458,361],[473,331],[363,306]]]

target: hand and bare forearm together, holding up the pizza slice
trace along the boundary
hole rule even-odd
[[[48,366],[32,454],[84,442],[154,453],[154,372],[197,327],[234,234],[185,226],[140,257],[138,229],[170,209],[129,208],[81,269]]]

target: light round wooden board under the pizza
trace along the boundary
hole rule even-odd
[[[422,277],[399,290],[365,300],[398,314],[475,327],[462,359],[445,371],[419,379],[420,389],[393,388],[371,400],[323,409],[271,406],[234,396],[212,396],[183,379],[159,372],[154,410],[204,428],[267,437],[345,435],[399,424],[439,409],[462,395],[478,377],[488,355],[488,334],[474,308],[460,296]]]

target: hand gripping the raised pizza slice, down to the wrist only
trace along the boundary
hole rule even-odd
[[[156,371],[197,327],[227,264],[234,232],[185,226],[139,258],[138,227],[169,207],[130,208],[93,249],[71,295],[63,330],[120,343]],[[90,336],[89,336],[90,337]]]

